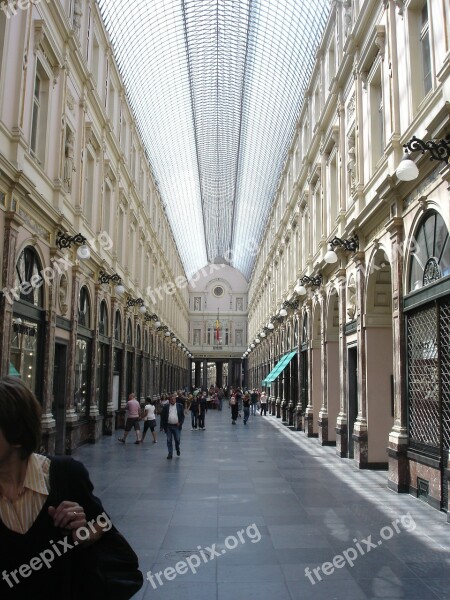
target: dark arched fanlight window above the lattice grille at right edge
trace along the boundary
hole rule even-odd
[[[441,215],[428,212],[416,230],[409,259],[409,292],[450,275],[448,229]]]

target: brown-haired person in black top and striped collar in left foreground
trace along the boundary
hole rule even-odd
[[[86,565],[113,525],[85,467],[37,454],[40,443],[39,402],[0,379],[0,598],[104,600]]]

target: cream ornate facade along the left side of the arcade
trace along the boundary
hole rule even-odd
[[[2,3],[0,228],[1,374],[47,450],[188,384],[184,269],[95,2]]]

